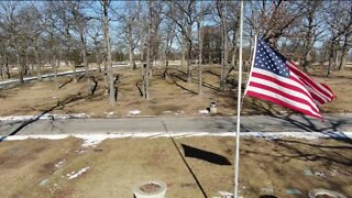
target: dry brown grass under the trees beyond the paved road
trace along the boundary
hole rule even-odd
[[[103,74],[95,73],[99,79],[95,96],[87,95],[87,80],[80,78],[74,82],[70,77],[59,77],[58,88],[53,80],[37,81],[0,90],[0,116],[51,113],[86,113],[92,118],[121,118],[131,116],[130,111],[140,110],[138,116],[198,116],[199,110],[209,108],[211,101],[218,103],[217,116],[235,114],[237,73],[232,72],[228,89],[220,91],[218,65],[204,66],[204,95],[198,94],[198,72],[195,67],[194,82],[187,84],[186,68],[172,67],[169,78],[162,77],[163,68],[154,68],[151,79],[151,99],[141,97],[141,70],[114,68],[121,76],[118,105],[110,107],[105,92]],[[246,72],[248,69],[245,69]],[[331,78],[324,77],[322,69],[311,70],[319,81],[331,86],[337,100],[321,108],[322,112],[352,112],[352,70],[334,72]],[[244,82],[246,73],[244,74]],[[244,88],[243,88],[244,89]],[[289,110],[245,97],[243,114],[283,113]],[[204,116],[204,114],[201,114]]]

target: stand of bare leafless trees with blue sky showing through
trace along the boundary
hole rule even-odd
[[[85,68],[89,95],[105,76],[116,106],[120,75],[113,65],[141,69],[142,97],[150,99],[153,70],[168,78],[170,61],[185,66],[188,84],[202,94],[202,65],[220,64],[220,89],[237,68],[239,1],[1,1],[0,77],[42,79],[43,70]],[[329,77],[352,59],[350,1],[245,1],[244,61],[254,35],[263,36],[306,72],[319,66]],[[197,78],[196,69],[197,67]],[[97,68],[91,73],[90,68]],[[56,84],[56,87],[58,85]]]

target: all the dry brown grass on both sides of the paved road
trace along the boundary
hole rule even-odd
[[[162,69],[153,72],[151,100],[139,91],[141,70],[116,68],[121,75],[118,106],[108,105],[103,75],[95,96],[87,96],[81,77],[24,84],[0,90],[0,116],[51,112],[86,113],[92,118],[122,118],[131,110],[139,116],[195,117],[217,101],[217,116],[234,116],[237,73],[232,72],[228,89],[220,91],[219,66],[204,67],[204,95],[199,97],[197,70],[194,82],[186,82],[185,68],[173,67],[169,78]],[[311,75],[329,85],[337,99],[323,106],[324,112],[351,112],[352,72],[334,72],[324,77],[321,69]],[[246,79],[246,77],[244,77]],[[287,113],[287,109],[245,97],[243,114]],[[0,142],[0,197],[133,197],[132,188],[145,179],[167,184],[167,197],[221,197],[233,191],[234,141],[231,138],[183,138],[176,145],[193,169],[189,173],[172,139],[112,139],[97,147],[82,146],[82,140],[25,140]],[[328,188],[352,195],[350,140],[242,139],[240,189],[243,197],[258,197],[263,188],[278,197],[307,197],[312,188]],[[312,175],[307,175],[311,173]],[[80,174],[78,174],[80,173]],[[76,174],[76,175],[75,175]],[[76,177],[77,176],[77,177]],[[201,187],[201,188],[200,188]],[[202,190],[201,190],[202,189]],[[298,189],[300,195],[287,195]],[[204,193],[202,193],[204,191]]]

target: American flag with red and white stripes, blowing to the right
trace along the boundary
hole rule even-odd
[[[300,72],[264,41],[257,40],[255,47],[245,94],[322,119],[318,106],[334,99],[332,90]]]

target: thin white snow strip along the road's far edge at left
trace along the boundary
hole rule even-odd
[[[26,121],[34,120],[38,116],[9,116],[9,117],[0,117],[0,121]],[[52,114],[45,113],[40,117],[40,120],[55,120],[55,119],[84,119],[89,118],[89,114],[86,113],[73,113],[73,114]]]

